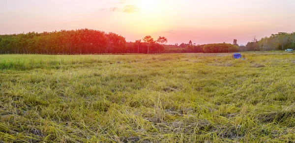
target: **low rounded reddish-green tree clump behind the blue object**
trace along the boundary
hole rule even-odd
[[[207,44],[204,46],[204,53],[230,53],[237,51],[238,46],[226,43]]]

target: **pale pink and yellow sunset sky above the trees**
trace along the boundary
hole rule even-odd
[[[126,41],[233,43],[295,31],[295,0],[0,0],[0,34],[61,29],[114,32]]]

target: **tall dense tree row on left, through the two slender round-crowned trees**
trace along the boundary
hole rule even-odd
[[[166,43],[151,36],[127,43],[121,35],[91,29],[29,32],[0,35],[0,54],[162,53]]]

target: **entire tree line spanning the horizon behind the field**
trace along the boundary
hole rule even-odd
[[[126,42],[116,33],[92,29],[28,32],[0,35],[0,54],[121,54],[121,53],[228,53],[237,51],[272,51],[295,48],[295,32],[279,32],[247,45],[218,43],[199,45],[191,40],[185,44],[166,45],[166,37],[151,36]]]

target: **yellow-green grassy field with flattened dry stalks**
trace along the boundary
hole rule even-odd
[[[295,54],[0,55],[0,143],[295,142]]]

